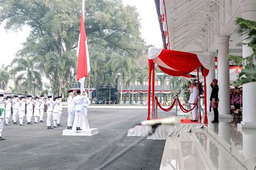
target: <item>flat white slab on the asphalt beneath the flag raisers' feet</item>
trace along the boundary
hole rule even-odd
[[[71,136],[92,136],[99,133],[98,128],[89,128],[87,130],[76,131],[76,130],[63,130],[62,135],[71,135]]]

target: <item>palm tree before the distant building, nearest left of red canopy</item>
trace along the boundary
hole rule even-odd
[[[113,55],[109,60],[109,66],[112,69],[111,85],[116,85],[118,73],[120,73],[121,100],[123,100],[123,85],[126,83],[126,78],[130,74],[132,59],[127,56]]]

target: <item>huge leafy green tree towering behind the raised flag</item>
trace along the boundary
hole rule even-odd
[[[118,55],[117,51],[132,58],[145,53],[134,6],[124,6],[120,0],[87,0],[85,3],[86,35],[92,55],[101,53],[108,62],[112,55]],[[53,94],[62,93],[76,77],[81,2],[3,0],[0,5],[0,24],[6,21],[5,29],[22,29],[24,25],[31,28],[19,57],[39,58],[38,69],[50,79]],[[92,67],[90,76],[95,84],[102,80],[100,76],[105,71],[93,60],[91,64],[96,68]]]

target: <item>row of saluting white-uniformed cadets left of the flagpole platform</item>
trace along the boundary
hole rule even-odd
[[[12,120],[14,121],[14,125],[24,126],[23,118],[25,117],[26,110],[26,120],[28,125],[33,125],[31,123],[32,115],[34,113],[35,124],[44,123],[44,106],[48,106],[48,111],[52,111],[53,113],[47,116],[48,123],[51,123],[51,118],[53,115],[53,126],[58,127],[60,125],[60,118],[62,116],[62,97],[55,97],[52,100],[52,96],[48,96],[48,100],[44,98],[44,96],[32,98],[32,96],[25,97],[6,97],[4,100],[4,111],[5,111],[5,125],[9,124],[9,118],[11,117],[11,104],[13,108]],[[26,105],[26,107],[25,107]],[[34,108],[33,108],[34,106]],[[19,123],[17,122],[19,118]],[[51,126],[48,124],[48,127]]]

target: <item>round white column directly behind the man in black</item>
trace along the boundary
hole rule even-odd
[[[232,118],[230,114],[230,70],[227,55],[230,36],[219,35],[218,43],[218,85],[219,118]]]

